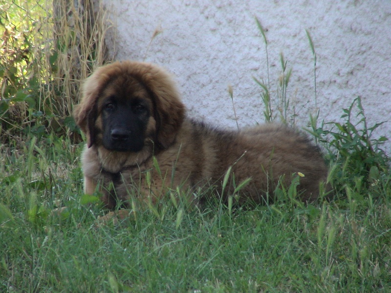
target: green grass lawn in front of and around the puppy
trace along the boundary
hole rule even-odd
[[[218,201],[187,210],[168,200],[159,216],[96,226],[103,209],[80,202],[81,148],[55,137],[2,146],[0,292],[391,289],[390,175],[306,207],[230,213]]]

